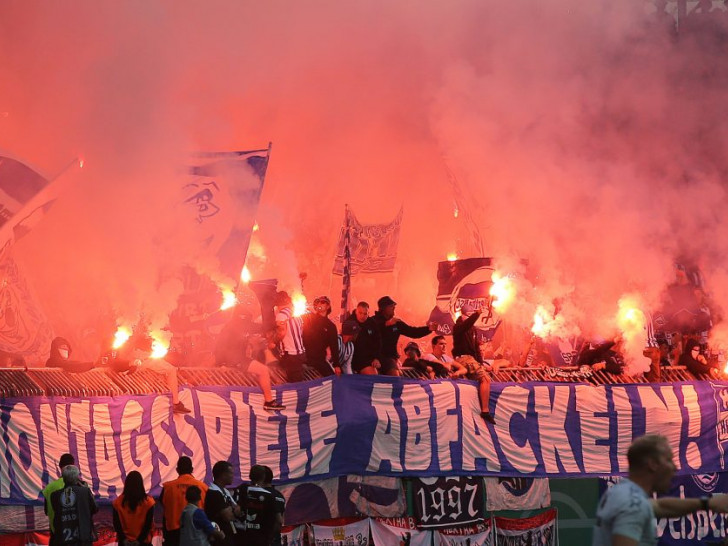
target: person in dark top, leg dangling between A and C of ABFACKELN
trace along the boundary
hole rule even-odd
[[[465,377],[478,382],[480,416],[486,423],[495,424],[495,419],[489,409],[490,365],[483,360],[478,341],[478,329],[475,327],[480,313],[480,309],[475,309],[467,303],[460,308],[460,316],[452,329],[452,356],[466,369]]]

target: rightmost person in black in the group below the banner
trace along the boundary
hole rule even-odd
[[[240,508],[245,513],[245,546],[270,546],[283,525],[283,506],[277,496],[265,484],[272,472],[265,466],[253,465],[250,469],[250,485],[240,485],[235,491]],[[268,483],[270,483],[270,481]]]

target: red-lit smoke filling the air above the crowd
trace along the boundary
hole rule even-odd
[[[449,169],[486,254],[528,259],[528,298],[585,333],[627,293],[656,305],[678,256],[725,302],[728,63],[657,21],[635,0],[8,0],[0,148],[85,161],[16,255],[56,324],[168,306],[180,158],[270,141],[253,274],[306,272],[309,299],[340,293],[345,203],[364,223],[404,205],[397,271],[354,298],[424,323],[436,262],[473,249]]]

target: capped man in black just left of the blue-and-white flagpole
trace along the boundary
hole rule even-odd
[[[341,375],[339,361],[339,340],[336,325],[331,322],[331,301],[319,296],[313,301],[313,311],[303,317],[303,347],[306,351],[306,364],[316,369],[322,377]],[[331,354],[329,364],[326,354]]]

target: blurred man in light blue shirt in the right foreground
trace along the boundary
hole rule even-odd
[[[629,478],[607,489],[599,501],[592,546],[657,544],[655,518],[677,518],[699,511],[728,512],[728,495],[651,498],[670,489],[675,475],[666,437],[649,434],[627,450]]]

